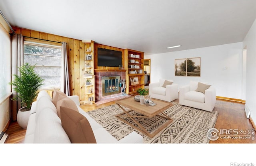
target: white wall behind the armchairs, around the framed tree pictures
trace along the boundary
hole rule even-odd
[[[184,51],[146,55],[151,59],[151,83],[160,78],[173,79],[179,86],[190,80],[205,81],[216,87],[216,95],[242,99],[242,55],[243,43],[231,43]],[[174,60],[201,57],[201,76],[185,77],[174,75]],[[227,67],[227,69],[224,69]]]

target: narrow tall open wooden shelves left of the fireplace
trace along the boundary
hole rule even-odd
[[[83,42],[83,41],[82,41]],[[95,75],[94,75],[94,42],[84,41],[85,53],[84,53],[84,69],[82,70],[84,77],[84,101],[82,104],[95,103]],[[90,84],[86,84],[89,80]]]

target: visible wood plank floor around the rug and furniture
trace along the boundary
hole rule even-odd
[[[178,100],[175,100],[178,102]],[[115,101],[110,101],[108,103],[90,104],[90,105],[80,105],[80,107],[88,112],[94,109],[99,109],[106,107],[108,105],[114,104]],[[218,119],[215,125],[217,129],[239,129],[239,130],[251,130],[253,128],[252,123],[246,118],[244,112],[244,104],[225,100],[216,100],[216,105],[214,107],[215,111],[218,111]],[[25,137],[26,129],[21,128],[18,123],[11,122],[10,126],[6,130],[8,137],[5,143],[23,143]],[[256,143],[256,140],[252,139],[218,139],[215,141],[210,141],[210,143]]]

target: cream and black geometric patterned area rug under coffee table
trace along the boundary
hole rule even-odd
[[[163,111],[173,119],[172,123],[153,138],[149,138],[132,126],[117,119],[115,115],[122,113],[122,110],[116,104],[89,111],[88,114],[117,140],[120,140],[132,131],[136,131],[143,136],[144,143],[209,143],[206,134],[208,129],[215,126],[218,112],[194,109],[182,106],[176,102],[172,102],[172,104],[172,107]],[[125,109],[127,111],[129,110],[128,108]],[[140,115],[135,111],[131,111],[130,113]],[[128,118],[126,120],[134,124]],[[141,124],[146,126],[146,129],[150,133],[154,132],[158,126],[166,122],[166,119],[158,116],[151,119],[140,118],[138,120]]]

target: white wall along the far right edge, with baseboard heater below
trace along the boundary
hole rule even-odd
[[[256,20],[244,38],[246,47],[246,107],[256,121]]]

